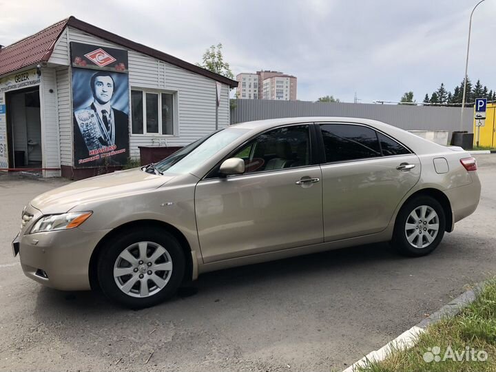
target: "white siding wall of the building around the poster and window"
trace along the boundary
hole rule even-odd
[[[75,28],[67,28],[61,38],[56,42],[54,52],[48,62],[69,65],[68,54],[70,41],[124,49],[122,45],[110,43]],[[64,58],[64,55],[67,57]],[[145,54],[135,52],[134,50],[128,50],[128,59],[131,89],[144,88],[170,91],[175,93],[176,98],[176,112],[174,113],[176,115],[176,130],[174,136],[131,134],[130,156],[132,158],[138,158],[138,146],[185,146],[215,130],[216,82],[214,80],[178,68],[176,65],[154,59]],[[68,73],[68,75],[70,74]],[[61,79],[57,90],[63,90],[65,92],[65,84],[67,83],[68,79]],[[70,88],[70,84],[68,87]],[[68,97],[67,94],[63,96]],[[70,96],[68,98],[70,101]],[[66,116],[63,116],[63,118],[66,120]],[[72,133],[72,120],[70,120],[69,127],[66,127],[66,124],[61,121],[61,129],[65,131],[69,128],[70,133]],[[227,125],[229,125],[229,87],[223,84],[218,109],[218,127],[225,127]],[[62,138],[63,136],[64,138]],[[72,165],[72,154],[68,154],[67,140],[67,135],[61,133],[63,164]],[[69,156],[70,161],[68,161]]]

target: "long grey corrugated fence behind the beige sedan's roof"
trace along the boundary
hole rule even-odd
[[[231,124],[266,118],[298,116],[349,116],[371,118],[404,130],[460,130],[460,107],[324,103],[238,99],[231,110]],[[473,132],[473,108],[464,109],[463,130]]]

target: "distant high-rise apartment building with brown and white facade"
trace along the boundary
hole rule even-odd
[[[238,99],[296,101],[296,76],[262,70],[256,74],[238,74],[236,80]]]

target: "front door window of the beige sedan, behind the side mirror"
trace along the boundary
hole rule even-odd
[[[282,127],[260,134],[232,157],[245,161],[245,174],[309,165],[309,125]]]

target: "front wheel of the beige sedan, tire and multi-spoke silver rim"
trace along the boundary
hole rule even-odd
[[[97,264],[103,293],[130,309],[152,307],[174,296],[184,272],[185,256],[178,240],[154,228],[117,237]]]

